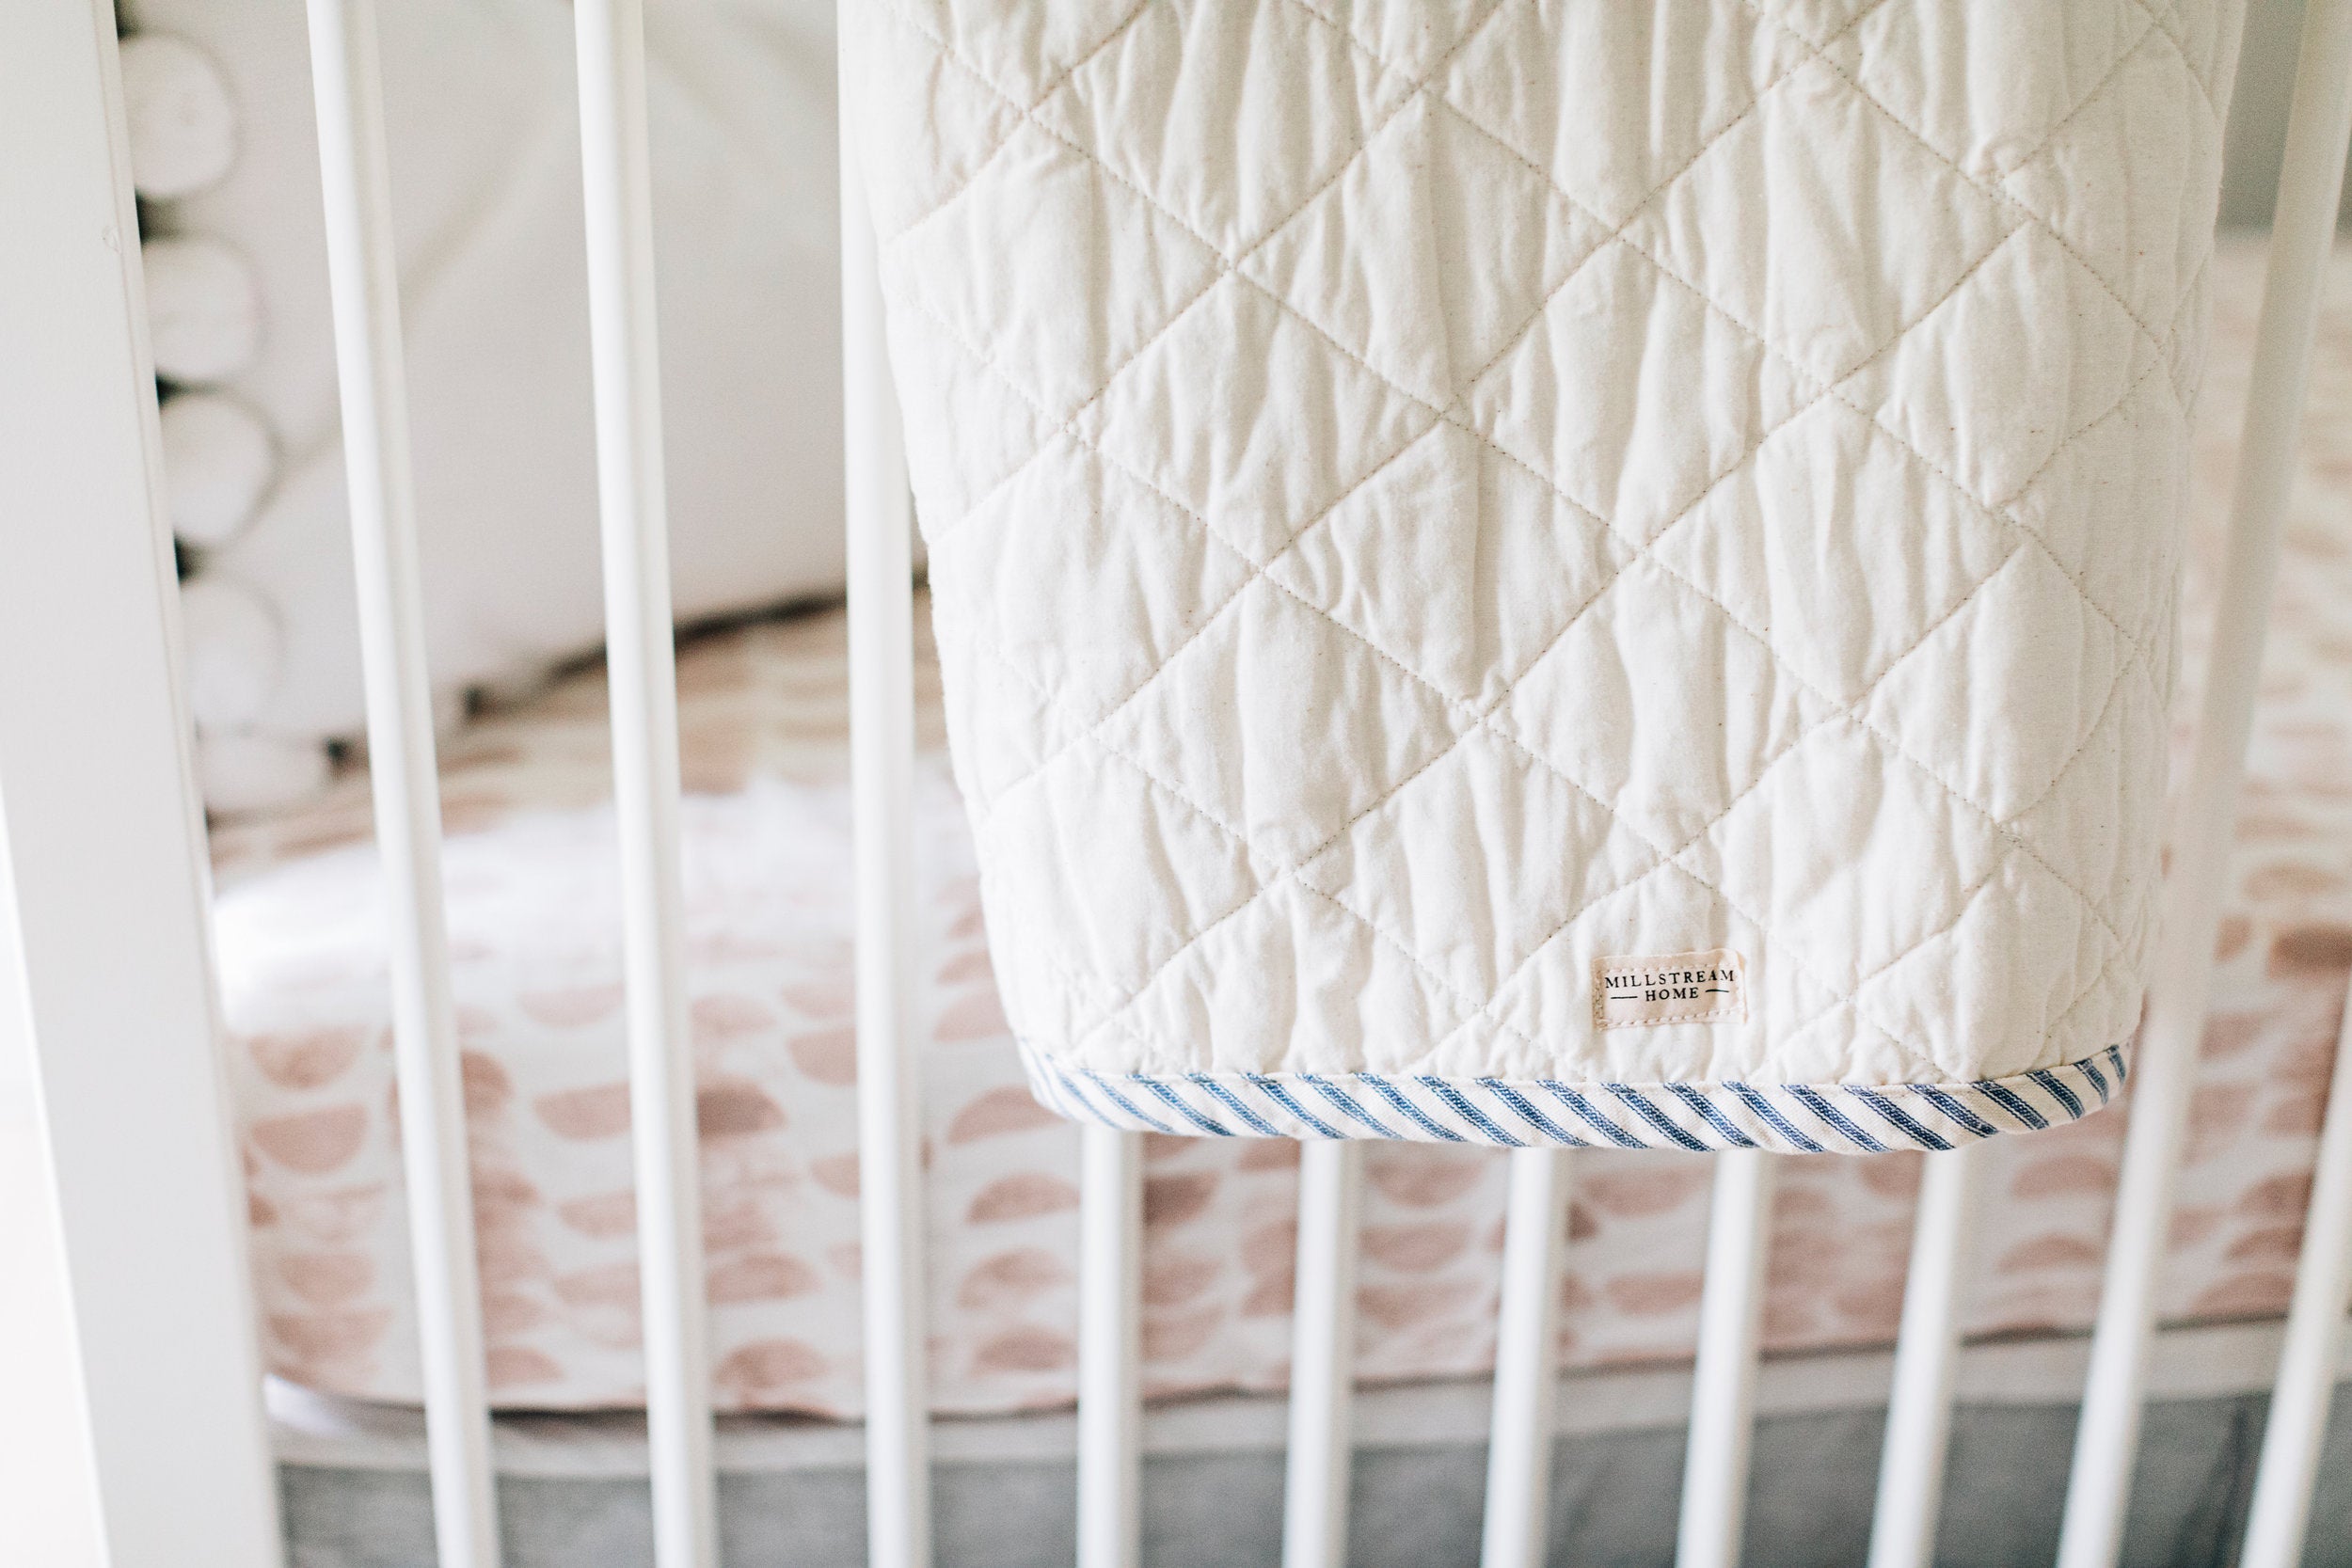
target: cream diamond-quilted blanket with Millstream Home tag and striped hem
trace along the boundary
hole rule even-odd
[[[1849,1152],[2105,1103],[2237,21],[849,7],[1040,1098]]]

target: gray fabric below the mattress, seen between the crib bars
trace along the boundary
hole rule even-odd
[[[2150,1406],[2126,1568],[2227,1568],[2246,1526],[2267,1399]],[[1745,1561],[1846,1568],[1863,1561],[1879,1465],[1879,1410],[1780,1415],[1757,1429]],[[1938,1568],[2049,1561],[2058,1542],[2074,1410],[1966,1406]],[[1477,1559],[1482,1448],[1357,1455],[1350,1568]],[[1552,1483],[1557,1568],[1668,1568],[1682,1432],[1564,1439]],[[943,1568],[1073,1561],[1068,1465],[950,1465],[938,1472]],[[294,1568],[433,1568],[423,1476],[282,1472]],[[499,1500],[508,1568],[635,1568],[652,1561],[647,1495],[630,1481],[510,1479]],[[854,1472],[729,1474],[720,1481],[727,1568],[858,1568],[866,1488]],[[1145,1467],[1145,1568],[1270,1563],[1282,1537],[1282,1462],[1270,1453],[1162,1455]],[[2352,1568],[2352,1385],[2338,1389],[2305,1568]]]

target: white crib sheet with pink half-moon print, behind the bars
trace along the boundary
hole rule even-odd
[[[2187,698],[2260,252],[2216,261],[2187,590]],[[2352,259],[2319,339],[2169,1319],[2284,1312],[2352,969]],[[858,1215],[849,797],[837,614],[694,637],[680,656],[687,947],[701,1077],[717,1399],[854,1418]],[[990,983],[971,846],[924,693],[917,788],[931,1394],[948,1413],[1075,1396],[1077,1128],[1028,1095]],[[2183,719],[2183,748],[2187,741]],[[2183,750],[2185,755],[2185,750]],[[2178,771],[2178,769],[2176,769]],[[466,726],[442,766],[449,926],[494,1396],[642,1399],[604,689],[576,672]],[[214,827],[219,957],[268,1363],[336,1394],[419,1396],[383,912],[367,783]],[[2129,1105],[1985,1147],[1973,1335],[2091,1319]],[[1708,1220],[1693,1154],[1576,1154],[1569,1366],[1689,1356]],[[1503,1157],[1367,1150],[1359,1366],[1494,1359]],[[1896,1331],[1919,1157],[1795,1157],[1773,1218],[1773,1349]],[[1277,1389],[1289,1361],[1296,1147],[1152,1138],[1145,1380]]]

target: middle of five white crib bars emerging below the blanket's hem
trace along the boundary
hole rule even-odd
[[[1559,1387],[1559,1258],[1566,1251],[1566,1150],[1512,1150],[1503,1225],[1503,1309],[1494,1345],[1482,1568],[1541,1568],[1552,1495],[1552,1399]]]

